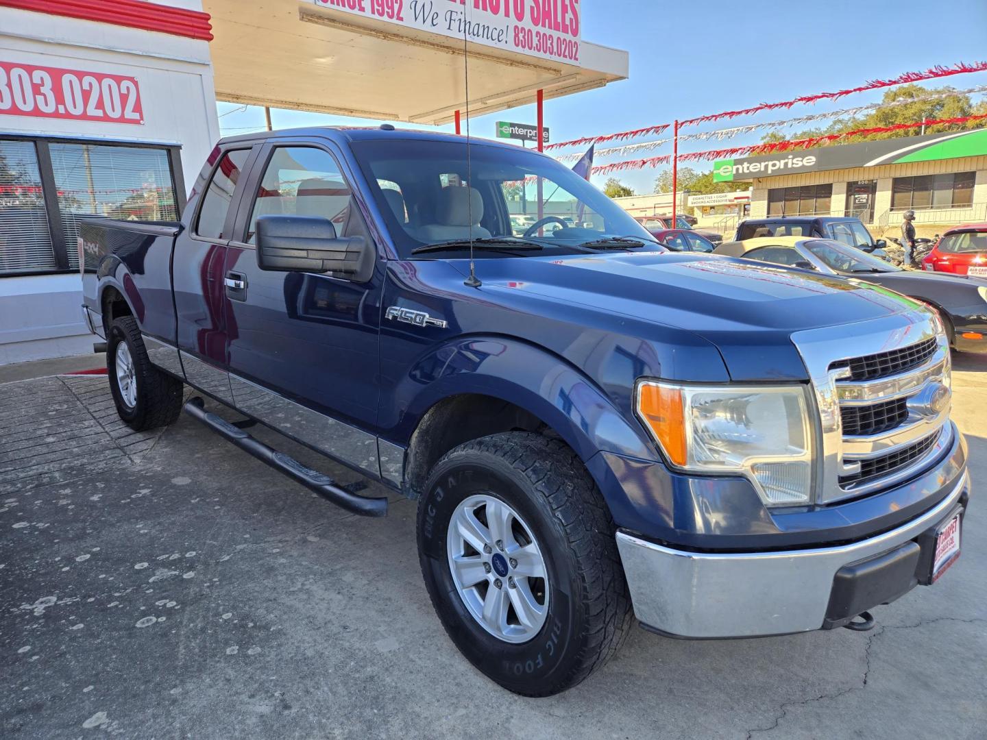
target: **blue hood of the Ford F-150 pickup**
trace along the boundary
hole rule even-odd
[[[734,381],[805,379],[792,333],[921,307],[868,283],[711,255],[481,259],[476,269],[483,290],[520,291],[696,333],[720,350]]]

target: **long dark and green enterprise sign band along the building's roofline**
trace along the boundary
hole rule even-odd
[[[721,159],[713,164],[716,183],[770,178],[849,167],[876,167],[909,162],[930,162],[987,154],[987,128],[958,133],[931,133],[898,139],[865,141],[802,151],[768,154],[763,157]]]

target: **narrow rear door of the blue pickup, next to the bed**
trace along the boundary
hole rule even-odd
[[[223,264],[236,216],[251,148],[213,152],[213,169],[190,216],[189,228],[175,240],[172,287],[177,343],[191,385],[232,403],[226,368],[226,317]]]

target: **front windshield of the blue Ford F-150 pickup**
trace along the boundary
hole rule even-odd
[[[664,251],[596,187],[521,147],[472,144],[467,157],[463,141],[390,139],[353,142],[352,150],[402,258],[413,251],[427,252],[427,258],[445,254],[422,249],[430,245],[468,253],[471,238],[488,240],[477,259],[519,257],[509,242],[521,239],[541,247],[524,254]],[[614,237],[632,239],[602,241]],[[504,244],[493,249],[489,240]]]

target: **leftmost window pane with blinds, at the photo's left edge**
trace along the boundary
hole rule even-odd
[[[54,268],[35,143],[0,140],[0,275]]]

